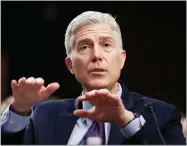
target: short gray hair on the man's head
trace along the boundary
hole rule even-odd
[[[68,25],[66,29],[65,34],[65,48],[66,48],[66,54],[68,57],[70,57],[74,42],[74,34],[75,31],[86,25],[90,24],[96,24],[96,23],[106,23],[111,26],[111,28],[117,33],[117,36],[120,41],[120,48],[123,48],[122,44],[122,37],[121,37],[121,31],[118,23],[116,22],[115,18],[108,14],[108,13],[102,13],[102,12],[96,12],[96,11],[86,11],[75,17],[70,24]]]

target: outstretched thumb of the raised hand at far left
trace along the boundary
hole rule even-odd
[[[54,93],[60,87],[59,83],[51,83],[49,84],[45,90],[42,91],[42,97],[49,97],[52,93]]]

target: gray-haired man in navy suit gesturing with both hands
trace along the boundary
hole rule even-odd
[[[41,103],[58,83],[12,80],[14,101],[1,117],[3,144],[185,144],[173,105],[131,93],[119,81],[126,52],[112,16],[80,14],[66,30],[65,47],[82,94]]]

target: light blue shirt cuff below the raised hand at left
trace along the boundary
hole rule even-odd
[[[31,116],[33,114],[33,109],[31,108]],[[18,132],[23,130],[26,125],[29,123],[29,119],[31,116],[21,116],[12,111],[10,111],[10,105],[4,111],[1,116],[1,126],[7,132]]]

